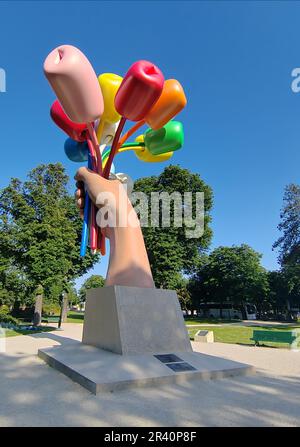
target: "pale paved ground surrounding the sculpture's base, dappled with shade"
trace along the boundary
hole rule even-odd
[[[94,396],[44,364],[39,347],[81,338],[81,324],[7,339],[0,426],[299,426],[300,352],[224,343],[195,350],[255,365],[255,376]]]

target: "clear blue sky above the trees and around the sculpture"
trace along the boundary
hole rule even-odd
[[[42,72],[54,47],[72,44],[97,74],[124,75],[138,59],[184,86],[185,145],[173,157],[213,188],[213,243],[247,243],[276,269],[272,244],[284,186],[299,183],[298,2],[0,2],[0,187],[39,163],[78,165],[49,118],[54,100]],[[120,155],[118,172],[155,175],[164,164]],[[70,190],[73,184],[70,183]],[[104,259],[94,272],[105,274]]]

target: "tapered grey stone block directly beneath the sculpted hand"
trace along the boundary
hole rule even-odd
[[[192,351],[176,292],[163,289],[89,290],[82,342],[122,355]]]

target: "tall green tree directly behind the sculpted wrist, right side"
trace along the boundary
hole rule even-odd
[[[168,166],[159,176],[145,177],[137,180],[135,192],[143,192],[148,197],[149,217],[148,226],[142,226],[144,240],[156,287],[172,288],[178,274],[189,274],[193,271],[197,259],[209,247],[212,230],[210,228],[210,211],[213,203],[211,188],[200,178],[187,169],[179,166]],[[196,192],[204,193],[204,233],[201,236],[189,238],[187,222],[183,219],[183,226],[174,225],[174,207],[171,206],[171,221],[169,227],[162,223],[162,204],[158,205],[160,225],[152,226],[151,213],[157,204],[152,204],[151,193],[176,193],[182,196],[185,192],[193,194],[192,218],[196,217]],[[181,216],[184,216],[184,204],[180,207]]]

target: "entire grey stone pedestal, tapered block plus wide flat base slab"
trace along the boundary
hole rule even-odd
[[[95,394],[253,372],[249,365],[192,352],[176,293],[136,287],[90,290],[82,343],[38,355]]]

